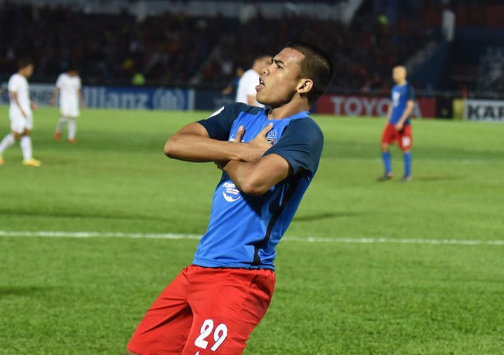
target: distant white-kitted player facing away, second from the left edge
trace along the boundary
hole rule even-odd
[[[77,132],[77,117],[79,117],[79,104],[84,107],[84,99],[82,97],[81,78],[77,69],[70,69],[66,73],[60,74],[56,81],[56,88],[51,97],[51,106],[54,105],[55,99],[60,94],[60,119],[54,132],[55,141],[61,138],[61,131],[68,123],[68,141],[75,144],[75,134]]]

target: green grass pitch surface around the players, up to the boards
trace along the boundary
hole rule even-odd
[[[35,113],[34,157],[0,167],[0,230],[202,233],[219,172],[168,160],[206,113],[83,111],[77,145]],[[0,107],[0,136],[8,132]],[[317,116],[321,165],[287,235],[504,239],[504,125],[415,121],[413,181],[382,172],[382,120]],[[122,354],[196,240],[0,237],[0,354]],[[281,242],[245,354],[503,354],[504,246]]]

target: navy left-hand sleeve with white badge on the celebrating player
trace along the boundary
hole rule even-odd
[[[205,127],[208,137],[219,141],[227,141],[234,120],[245,107],[247,107],[246,104],[238,103],[223,106],[206,120],[199,120],[198,123]]]

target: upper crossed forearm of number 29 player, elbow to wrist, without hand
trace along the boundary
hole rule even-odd
[[[199,134],[175,134],[168,139],[164,153],[173,159],[189,162],[242,160],[246,156],[244,144],[219,141]]]

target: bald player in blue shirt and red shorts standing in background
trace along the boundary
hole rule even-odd
[[[381,139],[381,151],[385,173],[381,181],[392,179],[392,162],[390,159],[390,144],[397,141],[404,157],[403,181],[411,181],[411,122],[410,116],[415,106],[415,92],[406,81],[406,68],[397,66],[392,69],[392,78],[397,85],[392,88],[392,102],[388,108],[387,123]]]

